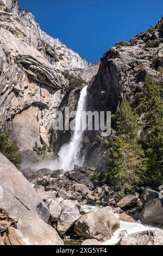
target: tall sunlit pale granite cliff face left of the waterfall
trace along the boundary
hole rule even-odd
[[[52,122],[68,86],[62,71],[78,76],[91,64],[43,32],[16,1],[0,2],[0,129],[12,131],[24,159],[35,142],[49,146]]]

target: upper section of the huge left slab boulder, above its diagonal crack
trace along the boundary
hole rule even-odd
[[[48,222],[49,211],[46,204],[36,193],[23,174],[16,169],[7,157],[0,153],[0,186],[8,190],[29,211],[36,212],[43,221]],[[4,195],[5,196],[5,195]],[[2,193],[3,198],[3,193]],[[0,207],[3,199],[0,198]],[[3,208],[3,205],[2,205]],[[6,208],[6,210],[8,210]],[[14,214],[15,215],[15,214]],[[15,215],[17,216],[17,215]]]

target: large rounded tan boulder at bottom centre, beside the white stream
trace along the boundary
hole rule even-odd
[[[120,222],[110,207],[97,208],[88,212],[75,223],[74,231],[77,235],[87,239],[106,241],[111,238]]]

